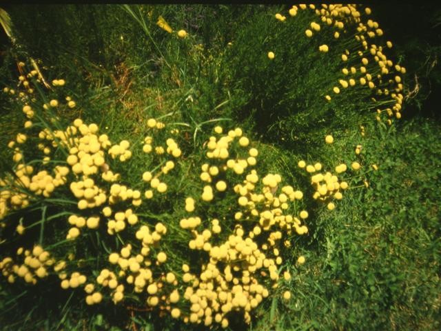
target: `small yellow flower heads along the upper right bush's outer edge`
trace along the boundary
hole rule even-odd
[[[358,5],[342,4],[322,4],[320,7],[314,4],[292,6],[289,15],[295,17],[298,10],[311,10],[318,17],[318,21],[312,21],[305,30],[306,37],[311,38],[314,34],[329,30],[320,27],[320,24],[329,26],[335,39],[342,34],[348,34],[347,26],[354,26],[356,33],[353,38],[360,46],[354,47],[353,51],[345,50],[341,54],[342,77],[338,78],[338,85],[331,88],[334,94],[340,94],[342,90],[358,86],[371,90],[372,101],[384,105],[385,108],[378,108],[376,119],[381,121],[381,115],[387,114],[387,123],[391,125],[392,117],[400,119],[403,101],[402,74],[406,69],[399,64],[394,64],[388,59],[385,50],[392,47],[391,41],[387,41],[381,46],[380,39],[383,31],[379,28],[378,22],[371,19],[363,21],[364,15],[371,14],[370,8],[365,8],[365,13],[360,12]],[[278,21],[285,21],[286,17],[277,13]],[[322,44],[319,46],[320,52],[328,52],[329,46]],[[269,59],[274,59],[274,52],[268,53]],[[325,99],[331,101],[332,94],[326,94]]]

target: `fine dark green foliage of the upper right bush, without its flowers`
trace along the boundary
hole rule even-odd
[[[273,7],[270,12],[287,11],[280,9]],[[314,21],[321,29],[314,31],[313,37],[306,37],[305,30],[311,29],[309,23]],[[340,34],[338,39],[334,37],[336,32]],[[374,81],[378,66],[373,64],[369,50],[360,51],[353,30],[328,26],[312,10],[299,10],[296,17],[287,14],[282,22],[267,11],[257,12],[233,40],[225,66],[231,68],[232,86],[245,96],[245,103],[236,108],[234,116],[239,121],[252,117],[255,130],[271,143],[285,148],[296,144],[297,151],[305,153],[318,148],[316,142],[329,132],[344,132],[361,121],[370,121],[371,110],[390,102],[390,98],[382,101],[367,86],[360,86],[359,79],[365,77],[360,73],[360,59],[369,59],[366,68]],[[329,46],[329,52],[318,51],[323,44]],[[347,50],[351,52],[347,53],[349,60],[342,61],[341,55]],[[267,58],[269,51],[276,54],[272,61]],[[356,74],[342,73],[343,68],[351,66]],[[356,86],[342,88],[339,80],[350,77]],[[332,91],[334,86],[340,88],[340,94]],[[326,95],[331,101],[325,99]]]

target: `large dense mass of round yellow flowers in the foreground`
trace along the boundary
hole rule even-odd
[[[54,272],[59,274],[61,288],[83,287],[86,293],[85,301],[90,305],[103,300],[105,288],[110,290],[112,301],[115,304],[119,303],[125,297],[127,286],[132,286],[134,292],[147,294],[147,305],[168,311],[172,317],[181,318],[185,322],[205,325],[220,323],[227,327],[229,312],[232,311],[240,312],[245,321],[249,322],[249,312],[256,308],[263,298],[269,296],[270,289],[267,285],[278,285],[278,269],[283,263],[280,245],[290,245],[289,239],[293,230],[297,234],[307,233],[307,227],[302,225],[301,220],[307,219],[308,213],[305,210],[297,210],[294,203],[302,199],[302,192],[294,190],[290,185],[281,185],[282,178],[279,174],[270,173],[260,179],[254,169],[258,150],[249,147],[250,141],[243,135],[242,130],[236,128],[223,135],[223,128],[216,127],[214,132],[220,137],[212,136],[207,141],[206,157],[209,163],[204,163],[201,167],[202,194],[199,197],[185,198],[184,209],[189,216],[180,221],[183,230],[192,232],[192,239],[188,242],[189,249],[200,252],[201,264],[199,268],[192,268],[194,271],[191,272],[189,266],[183,263],[183,274],[179,276],[179,273],[176,273],[178,270],[166,271],[167,268],[163,268],[163,265],[167,265],[168,257],[159,248],[161,239],[167,234],[167,227],[159,222],[151,231],[149,226],[145,225],[145,221],[139,224],[139,216],[132,209],[119,210],[119,203],[127,199],[132,199],[135,207],[140,205],[141,203],[136,201],[143,199],[141,192],[120,183],[112,183],[109,190],[99,186],[100,179],[103,179],[104,183],[107,181],[103,174],[110,172],[106,163],[107,154],[111,158],[115,154],[121,156],[121,150],[127,151],[130,143],[121,141],[119,145],[112,146],[107,136],[97,135],[98,131],[96,125],[86,125],[80,119],[76,119],[73,125],[64,131],[41,131],[44,132],[40,132],[41,139],[49,137],[54,146],[68,149],[66,163],[70,168],[57,166],[55,178],[42,170],[41,174],[29,179],[27,176],[32,174],[33,169],[23,164],[17,167],[17,176],[28,178],[21,180],[37,188],[35,192],[47,196],[53,192],[51,183],[54,188],[58,184],[66,183],[69,173],[76,178],[70,182],[70,192],[74,199],[78,199],[76,207],[79,211],[68,217],[68,223],[72,228],[68,230],[67,239],[79,238],[83,228],[98,230],[100,220],[105,219],[109,234],[122,232],[127,224],[137,229],[135,238],[139,243],[134,241],[125,245],[119,252],[112,252],[108,257],[109,267],[102,269],[100,274],[94,280],[92,277],[92,281],[89,282],[88,277],[79,272],[72,272],[68,277],[63,271],[65,261],[55,264],[56,261],[49,259],[49,253],[44,252],[40,246],[34,249],[34,257],[25,259],[23,265],[14,264],[10,257],[3,259],[3,274],[11,282],[14,281],[14,274],[17,274],[19,277],[25,277],[26,281],[35,283],[36,277],[47,276],[48,266],[55,265]],[[54,137],[57,140],[54,140]],[[151,146],[152,142],[152,137],[145,139],[145,145]],[[174,139],[167,139],[166,145],[166,152],[171,157],[181,156],[181,150]],[[119,146],[120,152],[115,152],[115,146]],[[158,176],[167,174],[174,166],[173,161],[167,160],[155,177],[152,172],[144,172],[143,181],[150,183],[158,192],[165,192],[166,186],[165,189],[161,188],[161,184],[165,184],[159,181]],[[234,183],[234,180],[230,179],[229,185],[229,175],[237,176],[238,182]],[[114,180],[117,179],[112,178],[110,181]],[[222,194],[228,190],[237,195],[236,212],[232,214],[236,225],[232,234],[222,241],[222,237],[218,236],[222,234],[221,223],[225,220],[202,219],[201,216],[192,213],[196,211],[199,203],[203,205],[220,201]],[[151,198],[148,192],[149,190],[145,191],[146,199]],[[83,210],[96,210],[99,206],[103,207],[101,212],[94,212],[88,217],[83,216]],[[116,210],[112,210],[114,206],[118,206]],[[292,214],[293,212],[298,212],[298,216]],[[156,252],[155,258],[152,257],[152,252]],[[26,254],[30,253],[26,251]],[[304,261],[302,257],[298,263]],[[287,270],[284,279],[290,279]],[[287,299],[290,294],[285,292],[284,297]]]

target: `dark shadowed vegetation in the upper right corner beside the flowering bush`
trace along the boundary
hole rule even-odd
[[[376,2],[373,16],[393,41],[407,68],[409,89],[416,88],[404,118],[417,114],[441,119],[441,5],[437,1]]]

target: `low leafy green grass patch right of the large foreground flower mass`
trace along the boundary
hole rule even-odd
[[[380,170],[369,189],[316,215],[300,248],[309,262],[294,277],[293,304],[280,305],[276,330],[440,327],[441,146],[427,143],[438,128],[417,119],[370,139],[365,162]]]

